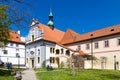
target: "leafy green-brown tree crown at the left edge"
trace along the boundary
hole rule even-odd
[[[7,44],[9,36],[9,26],[11,24],[10,18],[6,13],[8,6],[0,5],[0,47]]]

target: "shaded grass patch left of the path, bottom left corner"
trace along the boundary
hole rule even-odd
[[[0,80],[13,80],[13,75],[10,71],[0,70]]]

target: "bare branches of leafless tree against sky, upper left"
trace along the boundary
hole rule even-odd
[[[0,4],[9,6],[7,13],[17,29],[26,29],[30,22],[31,0],[0,0]]]

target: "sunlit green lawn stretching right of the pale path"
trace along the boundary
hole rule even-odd
[[[83,70],[77,76],[71,76],[69,70],[46,71],[36,70],[38,80],[120,80],[120,71]]]

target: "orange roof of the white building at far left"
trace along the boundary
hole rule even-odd
[[[23,43],[20,39],[20,35],[17,32],[10,30],[10,39],[9,41]]]

